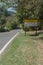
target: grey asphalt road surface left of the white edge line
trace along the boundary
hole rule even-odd
[[[5,46],[5,44],[20,30],[12,30],[10,32],[0,33],[0,50]]]

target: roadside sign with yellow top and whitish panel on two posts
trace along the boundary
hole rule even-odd
[[[38,26],[38,20],[24,20],[24,26],[25,27],[36,27],[36,35],[37,35],[37,26]],[[26,30],[25,30],[25,36],[26,36]]]

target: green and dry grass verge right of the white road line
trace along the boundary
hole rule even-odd
[[[0,59],[0,65],[38,65],[37,36],[24,36],[24,33],[15,38],[10,48]],[[43,41],[42,41],[43,42]]]

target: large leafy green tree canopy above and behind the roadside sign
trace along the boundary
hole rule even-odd
[[[23,23],[25,19],[39,20],[43,26],[43,0],[18,0],[18,20]]]

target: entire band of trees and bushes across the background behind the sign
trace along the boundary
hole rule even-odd
[[[6,2],[1,0],[1,2]],[[12,3],[12,4],[10,4]],[[8,31],[17,28],[18,23],[24,25],[24,20],[38,20],[38,26],[32,27],[22,27],[24,30],[29,29],[43,29],[43,1],[42,0],[18,0],[9,3],[7,5],[0,7],[0,31]],[[9,4],[9,5],[8,5]],[[6,8],[17,4],[16,13],[9,13]],[[3,18],[4,17],[4,18]],[[9,20],[10,18],[10,20]],[[4,22],[4,23],[3,23]]]

